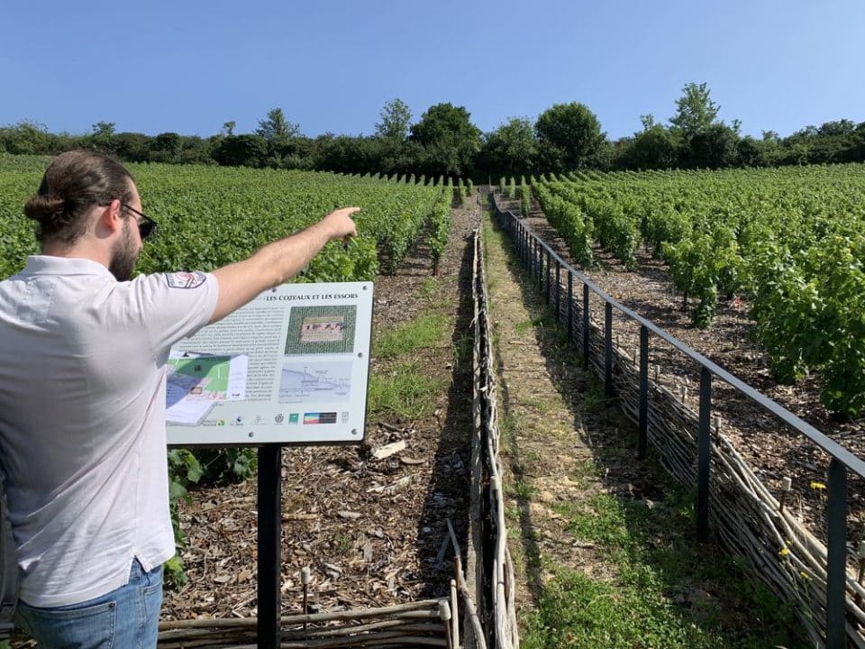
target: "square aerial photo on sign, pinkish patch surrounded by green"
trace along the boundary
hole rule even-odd
[[[286,355],[354,350],[357,306],[294,306],[288,319]]]

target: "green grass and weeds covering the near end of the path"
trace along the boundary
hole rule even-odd
[[[524,616],[521,646],[804,647],[791,608],[734,562],[706,562],[706,546],[687,540],[691,500],[673,490],[660,507],[647,507],[599,493],[554,506],[569,534],[605,558],[606,574],[547,566],[551,579]],[[742,616],[752,608],[760,615]]]

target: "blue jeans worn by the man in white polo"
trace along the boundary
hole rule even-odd
[[[41,649],[152,649],[159,633],[162,566],[132,561],[129,583],[80,604],[36,608],[18,602],[15,621]]]

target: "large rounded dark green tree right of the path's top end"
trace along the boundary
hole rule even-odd
[[[553,105],[538,117],[534,130],[546,169],[558,173],[606,166],[606,135],[586,105]]]

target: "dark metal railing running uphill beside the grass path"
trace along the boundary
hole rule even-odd
[[[498,223],[510,233],[514,240],[517,254],[524,262],[530,274],[537,281],[548,305],[555,305],[557,321],[560,316],[567,322],[569,339],[581,343],[584,362],[588,368],[590,363],[590,344],[592,327],[590,322],[590,299],[592,295],[603,300],[605,308],[603,343],[604,361],[602,367],[605,392],[608,396],[614,394],[614,359],[613,359],[613,312],[614,309],[640,325],[639,349],[639,416],[638,416],[638,455],[644,456],[648,445],[649,432],[649,344],[650,336],[654,335],[669,343],[678,352],[695,361],[700,367],[699,392],[699,425],[697,432],[697,536],[706,540],[709,531],[709,501],[710,501],[710,471],[711,459],[711,429],[712,429],[712,384],[719,379],[730,385],[744,397],[778,417],[785,424],[804,435],[817,447],[831,457],[828,467],[828,503],[827,503],[827,560],[825,589],[825,646],[829,649],[843,649],[847,646],[847,631],[845,630],[847,578],[847,479],[848,471],[865,477],[865,462],[853,455],[840,444],[821,433],[814,426],[781,407],[775,401],[760,394],[756,389],[737,379],[730,372],[709,361],[698,352],[681,343],[656,324],[637,315],[627,306],[622,305],[605,291],[596,286],[585,275],[575,270],[564,261],[551,247],[533,233],[524,222],[511,212],[503,212],[496,204],[495,196],[491,197]],[[563,290],[561,275],[567,273],[567,282]],[[574,284],[582,284],[582,305],[578,308],[575,299]],[[566,295],[562,295],[565,292]],[[564,305],[562,301],[564,300]],[[562,308],[564,306],[564,309]],[[562,311],[564,314],[562,315]],[[581,311],[578,314],[577,311]],[[574,325],[582,316],[578,326],[580,340],[575,340]],[[855,584],[854,584],[855,585]],[[857,591],[857,596],[860,592]],[[861,637],[861,636],[860,636]],[[859,643],[858,643],[859,644]],[[861,645],[861,644],[860,644]]]

